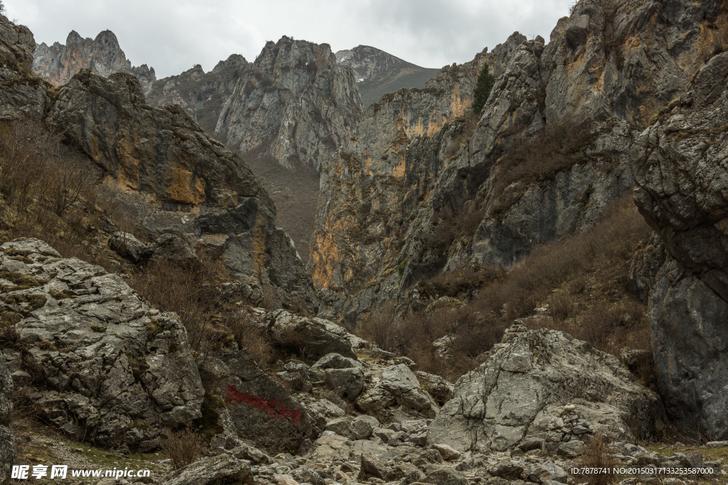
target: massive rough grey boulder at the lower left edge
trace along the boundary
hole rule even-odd
[[[200,417],[202,380],[186,329],[124,280],[37,239],[0,246],[0,314],[15,325],[12,372],[44,419],[100,446],[148,450]]]

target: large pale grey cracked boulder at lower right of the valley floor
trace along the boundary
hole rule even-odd
[[[502,452],[545,438],[558,405],[577,400],[579,412],[596,428],[620,433],[615,437],[652,438],[659,431],[660,399],[618,358],[563,332],[514,324],[477,370],[460,377],[427,442]]]

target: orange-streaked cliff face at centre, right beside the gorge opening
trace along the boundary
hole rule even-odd
[[[486,58],[481,53],[470,63],[446,66],[423,89],[385,95],[367,108],[336,158],[322,167],[308,266],[314,280],[328,286],[320,316],[349,313],[353,323],[380,297],[382,286],[389,292],[398,288],[397,241],[440,169],[438,160],[410,156],[409,148],[467,113]]]

